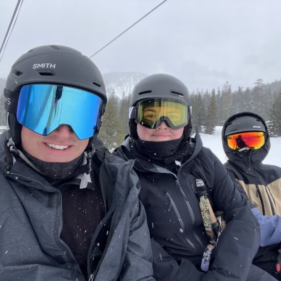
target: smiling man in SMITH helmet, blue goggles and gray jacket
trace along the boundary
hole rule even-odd
[[[133,161],[96,138],[106,105],[96,65],[65,46],[34,48],[4,96],[0,279],[154,280]]]

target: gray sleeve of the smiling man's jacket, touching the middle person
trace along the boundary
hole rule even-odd
[[[130,216],[129,239],[121,281],[155,281],[149,229],[143,204],[137,199]]]

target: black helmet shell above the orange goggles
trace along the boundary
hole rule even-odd
[[[264,132],[267,134],[266,124],[259,115],[251,112],[241,112],[232,115],[225,125],[224,136],[242,132]]]

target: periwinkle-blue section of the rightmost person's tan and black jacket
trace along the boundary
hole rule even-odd
[[[252,208],[252,212],[261,226],[261,246],[270,246],[281,242],[281,217],[263,216],[259,209]]]

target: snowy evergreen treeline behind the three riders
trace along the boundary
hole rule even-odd
[[[5,80],[0,78],[3,93]],[[109,149],[122,144],[128,134],[130,96],[123,93],[120,99],[114,89],[108,93],[108,101],[100,137]],[[192,124],[199,132],[213,134],[216,126],[222,126],[232,114],[251,111],[261,115],[272,137],[281,136],[281,80],[264,84],[257,79],[253,87],[239,87],[233,91],[226,82],[221,88],[191,92]],[[0,97],[0,126],[6,125],[3,95]]]

